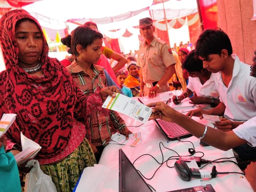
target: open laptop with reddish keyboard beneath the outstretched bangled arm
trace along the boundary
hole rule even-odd
[[[159,130],[165,135],[168,140],[176,140],[178,138],[191,137],[192,134],[186,129],[183,129],[176,123],[164,121],[161,119],[155,119],[155,124],[158,126]]]

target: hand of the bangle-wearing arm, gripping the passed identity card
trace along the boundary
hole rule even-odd
[[[174,122],[176,114],[179,113],[164,102],[149,103],[146,106],[154,107],[149,120],[162,119],[164,121]]]

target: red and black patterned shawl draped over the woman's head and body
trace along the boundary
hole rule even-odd
[[[21,148],[20,132],[42,146],[37,155],[40,164],[49,164],[71,154],[85,137],[85,125],[75,118],[91,112],[104,113],[98,91],[86,97],[75,85],[64,65],[48,57],[43,38],[39,62],[43,76],[27,74],[18,65],[19,48],[15,38],[18,20],[38,21],[25,10],[12,10],[0,19],[0,42],[6,70],[0,73],[0,115],[16,113],[16,121],[5,134],[6,149]],[[86,120],[86,119],[85,119]]]

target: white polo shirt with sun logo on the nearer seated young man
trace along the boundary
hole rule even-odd
[[[224,117],[231,121],[247,121],[256,116],[256,78],[250,76],[250,66],[235,59],[232,79],[226,87],[221,72],[214,75],[220,101],[226,106]]]

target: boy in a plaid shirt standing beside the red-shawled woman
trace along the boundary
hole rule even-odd
[[[71,33],[71,49],[76,59],[66,69],[72,78],[82,90],[82,92],[90,96],[94,94],[97,87],[106,87],[107,80],[104,69],[95,65],[102,54],[103,35],[88,26],[77,27]],[[88,119],[89,129],[86,130],[86,137],[91,141],[95,151],[97,162],[100,159],[104,146],[111,139],[111,132],[119,131],[126,135],[131,132],[127,129],[124,120],[116,111],[109,110],[107,115],[100,111],[92,113],[86,117]]]

